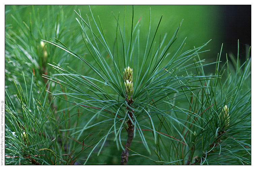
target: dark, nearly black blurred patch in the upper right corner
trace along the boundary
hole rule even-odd
[[[237,56],[237,40],[239,39],[239,58],[246,60],[252,37],[251,5],[221,5],[223,11],[224,37],[223,54],[233,53]],[[223,55],[223,59],[226,55]]]

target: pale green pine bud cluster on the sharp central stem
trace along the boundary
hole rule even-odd
[[[128,66],[124,69],[124,86],[127,99],[131,99],[133,94],[132,69]]]

